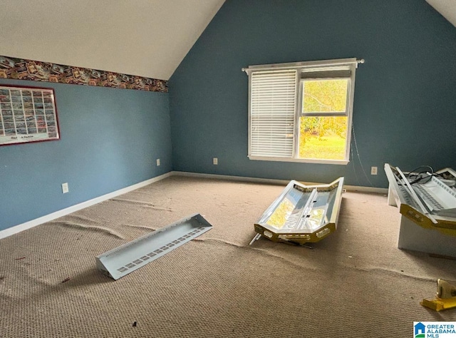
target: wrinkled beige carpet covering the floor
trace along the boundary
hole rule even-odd
[[[314,250],[249,246],[283,188],[173,176],[0,240],[0,337],[412,337],[414,321],[456,321],[419,304],[456,260],[398,250],[385,195],[344,193]],[[212,230],[120,280],[95,270],[195,212]]]

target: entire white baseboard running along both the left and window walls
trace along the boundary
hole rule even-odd
[[[217,175],[217,174],[202,174],[202,173],[189,173],[186,171],[170,171],[169,173],[165,173],[163,175],[157,176],[155,178],[151,178],[150,180],[145,180],[140,183],[136,183],[134,185],[130,185],[126,188],[113,191],[113,193],[108,193],[106,195],[102,195],[98,198],[93,198],[92,200],[87,200],[86,202],[79,203],[77,205],[72,205],[71,207],[58,210],[56,212],[52,212],[51,214],[44,215],[43,217],[38,217],[34,220],[30,220],[28,222],[15,225],[14,227],[9,227],[8,229],[0,231],[0,239],[4,237],[8,237],[14,235],[18,232],[30,229],[31,227],[36,227],[36,225],[43,224],[45,222],[49,222],[51,220],[55,220],[58,217],[62,217],[71,212],[76,212],[83,208],[88,208],[91,205],[95,205],[97,203],[103,202],[105,200],[109,200],[110,198],[114,198],[118,195],[123,195],[130,191],[136,190],[138,188],[145,187],[145,185],[150,185],[151,183],[155,183],[159,180],[163,180],[164,178],[168,178],[170,176],[186,176],[186,177],[195,177],[195,178],[213,178],[217,180],[238,180],[244,182],[254,182],[254,183],[269,183],[269,184],[278,184],[278,185],[287,185],[289,180],[274,180],[270,178],[251,178],[251,177],[243,177],[243,176],[231,176],[231,175]],[[318,183],[312,182],[302,182],[306,185],[314,185]],[[372,188],[372,187],[358,187],[356,185],[344,185],[347,191],[359,191],[361,193],[378,193],[378,194],[387,194],[388,189],[386,188]]]

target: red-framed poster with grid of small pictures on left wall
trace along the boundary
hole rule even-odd
[[[53,88],[0,85],[0,145],[59,138]]]

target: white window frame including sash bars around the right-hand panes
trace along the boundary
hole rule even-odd
[[[355,91],[355,76],[356,68],[358,68],[358,60],[356,58],[344,58],[336,60],[323,60],[323,61],[304,61],[296,63],[276,63],[269,65],[257,65],[249,66],[249,68],[243,68],[249,76],[249,138],[248,138],[248,158],[250,160],[269,160],[269,161],[280,161],[280,162],[298,162],[298,163],[323,163],[323,164],[336,164],[346,165],[349,163],[350,158],[350,145],[351,145],[351,127],[353,121],[353,99]],[[291,157],[276,157],[276,156],[264,156],[264,155],[252,155],[252,73],[260,71],[286,71],[296,70],[296,86],[295,86],[295,107],[294,107],[294,140],[293,150]],[[340,76],[337,75],[337,71],[346,71],[345,74]],[[321,73],[322,76],[305,77],[306,73]],[[349,72],[349,73],[348,73]],[[331,76],[324,76],[327,73]],[[311,80],[326,80],[326,79],[337,79],[346,78],[348,79],[347,88],[347,101],[346,101],[346,112],[345,113],[309,113],[307,115],[303,112],[303,86],[304,81]],[[301,116],[347,116],[347,137],[346,137],[346,149],[343,160],[331,160],[331,159],[320,159],[320,158],[299,158],[299,119]]]

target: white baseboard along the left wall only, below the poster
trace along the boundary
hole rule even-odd
[[[62,217],[62,216],[71,214],[71,212],[76,212],[78,210],[88,208],[91,205],[95,205],[95,204],[103,202],[105,200],[109,200],[110,198],[115,198],[118,195],[123,195],[125,193],[129,193],[130,191],[145,187],[145,185],[150,185],[151,183],[155,183],[159,180],[163,180],[164,178],[170,177],[171,175],[172,175],[172,172],[165,173],[165,174],[157,176],[155,178],[150,178],[150,180],[145,180],[140,183],[136,183],[134,185],[130,185],[128,187],[125,187],[125,188],[122,188],[119,190],[115,190],[112,193],[108,193],[106,195],[99,196],[98,198],[93,198],[92,200],[86,200],[86,202],[72,205],[71,207],[68,207],[68,208],[65,208],[62,210],[58,210],[56,212],[52,212],[51,214],[48,214],[48,215],[44,215],[43,217],[38,217],[34,220],[30,220],[28,222],[25,222],[25,223],[22,223],[19,225],[15,225],[14,227],[9,227],[8,229],[0,231],[0,239],[14,235],[18,232],[30,229],[31,227],[36,227],[36,225],[40,225],[45,222],[55,220],[58,217]]]

